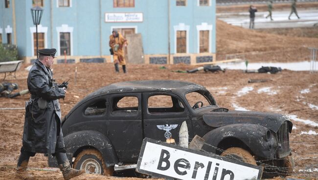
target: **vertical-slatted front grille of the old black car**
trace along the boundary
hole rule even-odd
[[[284,158],[290,154],[289,149],[289,131],[288,124],[285,121],[277,132],[278,143],[281,144],[281,148],[278,150],[278,158]]]

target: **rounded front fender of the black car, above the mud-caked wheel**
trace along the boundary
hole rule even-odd
[[[203,138],[205,140],[203,149],[207,152],[217,153],[220,144],[227,144],[228,147],[240,146],[244,149],[250,150],[251,153],[257,157],[274,158],[275,150],[278,147],[276,134],[270,131],[271,136],[266,138],[266,133],[270,131],[264,126],[257,124],[233,124],[222,126],[206,133]],[[233,141],[234,139],[237,139]],[[231,140],[227,142],[228,140]],[[222,147],[221,147],[222,148]]]

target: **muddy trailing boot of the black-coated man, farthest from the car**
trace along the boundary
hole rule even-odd
[[[16,177],[20,180],[36,180],[36,178],[27,173],[26,168],[29,163],[30,156],[27,153],[21,152],[18,159]]]

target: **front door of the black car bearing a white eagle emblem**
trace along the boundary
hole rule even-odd
[[[144,137],[163,142],[173,138],[178,144],[182,122],[186,121],[189,138],[193,138],[189,111],[179,96],[167,92],[147,92],[142,94],[142,99]]]

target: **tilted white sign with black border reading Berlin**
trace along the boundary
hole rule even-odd
[[[180,180],[256,180],[263,167],[145,138],[136,171]]]

